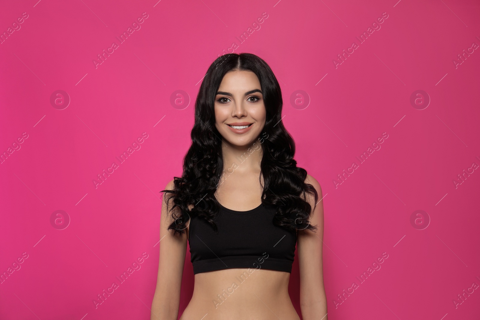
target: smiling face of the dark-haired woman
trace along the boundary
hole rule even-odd
[[[233,145],[254,142],[265,126],[266,110],[262,88],[252,71],[229,71],[215,97],[215,126]]]

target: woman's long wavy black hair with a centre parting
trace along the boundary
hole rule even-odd
[[[216,92],[228,71],[252,71],[260,81],[266,122],[262,137],[258,137],[263,148],[260,182],[263,176],[262,203],[276,208],[274,225],[289,231],[316,230],[310,225],[312,206],[306,192],[318,194],[315,188],[305,183],[307,171],[297,166],[293,159],[295,142],[282,123],[282,93],[280,85],[268,64],[251,53],[228,53],[218,57],[208,68],[195,101],[195,122],[191,132],[192,144],[183,158],[183,174],[174,177],[173,190],[166,192],[167,203],[173,201],[174,221],[168,226],[174,235],[183,235],[193,216],[204,218],[215,231],[213,220],[220,206],[215,192],[222,178],[223,156],[221,135],[216,130],[214,103]],[[193,205],[190,210],[189,206]]]

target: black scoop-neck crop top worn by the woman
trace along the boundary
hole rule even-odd
[[[203,218],[191,217],[189,238],[193,273],[230,268],[291,273],[297,233],[273,224],[275,208],[260,204],[235,211],[220,204],[214,218],[218,234]]]

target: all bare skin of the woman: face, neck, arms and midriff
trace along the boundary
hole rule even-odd
[[[228,72],[215,98],[216,128],[222,135],[225,168],[216,191],[216,199],[227,208],[247,211],[260,205],[262,187],[260,161],[262,148],[256,138],[262,133],[266,111],[260,82],[252,71]],[[249,122],[252,128],[245,133],[232,132],[228,123]],[[247,150],[250,149],[250,152]],[[252,150],[255,150],[252,153]],[[240,156],[250,154],[244,162]],[[237,158],[237,156],[239,158]],[[233,172],[232,172],[233,170]],[[320,184],[308,175],[310,183],[322,199]],[[173,189],[173,180],[166,189]],[[308,201],[315,205],[313,197]],[[168,204],[171,206],[171,204]],[[192,208],[193,205],[191,205]],[[168,217],[165,195],[160,222],[160,259],[151,320],[177,320],[180,305],[180,285],[188,241],[187,233],[174,237],[167,231],[173,221]],[[300,308],[304,320],[327,320],[326,296],[323,281],[323,201],[319,201],[311,214],[310,223],[317,225],[315,232],[297,232],[297,254],[300,266]],[[225,269],[195,274],[193,296],[180,320],[299,320],[288,295],[290,273],[258,269],[243,283],[240,277],[247,269]],[[232,283],[239,284],[233,293],[221,300],[217,295],[227,292]],[[225,289],[225,291],[223,291]],[[217,301],[215,304],[214,301]]]

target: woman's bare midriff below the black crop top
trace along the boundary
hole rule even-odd
[[[261,268],[197,273],[180,320],[300,320],[289,279],[288,272]]]

